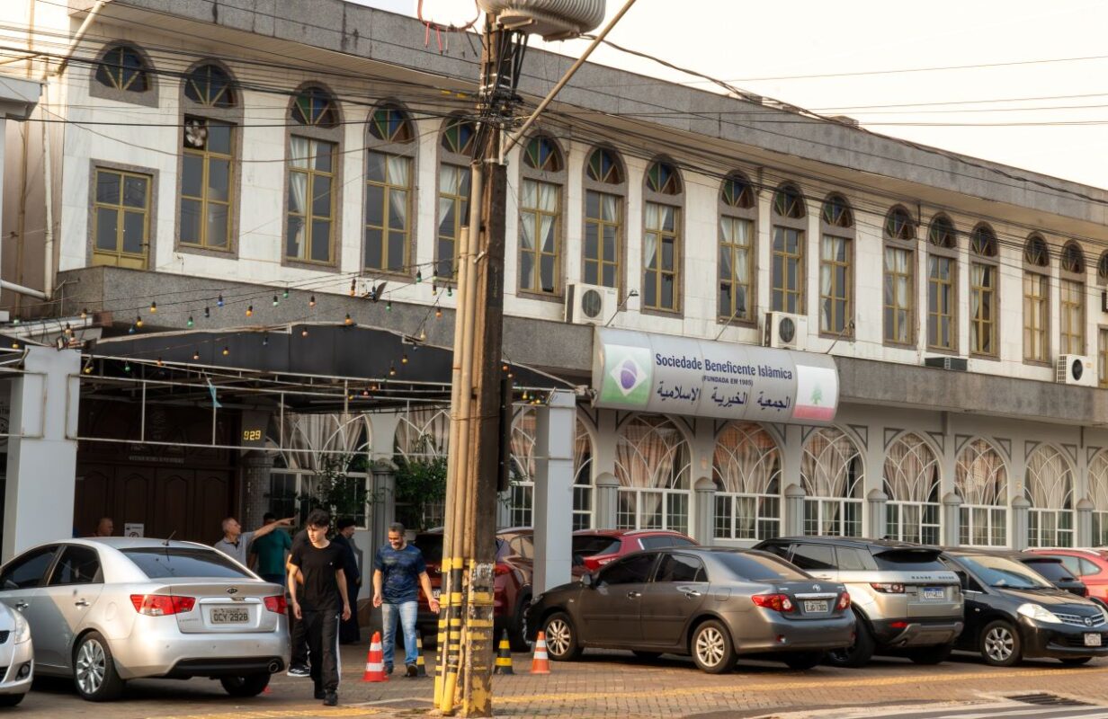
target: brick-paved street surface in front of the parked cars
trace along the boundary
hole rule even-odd
[[[429,654],[429,662],[433,653]],[[629,653],[586,654],[581,661],[554,662],[550,676],[527,674],[530,658],[515,655],[512,677],[496,677],[496,713],[505,717],[663,717],[729,719],[780,717],[1108,717],[1108,660],[1065,668],[1029,662],[1012,669],[987,667],[968,655],[937,667],[897,659],[865,669],[820,667],[790,671],[781,665],[742,662],[733,674],[709,676],[687,659],[646,661]],[[271,689],[250,701],[227,697],[217,682],[138,681],[121,701],[93,705],[65,681],[40,681],[17,710],[21,716],[112,719],[284,719],[420,716],[430,708],[432,680],[393,678],[362,684],[365,648],[343,647],[339,697],[325,710],[310,699],[306,679],[276,677]],[[1075,700],[1091,706],[1027,703],[1015,696],[1048,694],[1028,701]],[[876,710],[880,708],[881,712]]]

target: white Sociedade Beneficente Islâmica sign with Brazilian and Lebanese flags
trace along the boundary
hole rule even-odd
[[[755,422],[834,420],[827,355],[597,328],[596,407]]]

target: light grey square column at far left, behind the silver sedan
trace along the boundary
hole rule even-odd
[[[11,381],[2,559],[73,535],[81,355],[29,347]]]

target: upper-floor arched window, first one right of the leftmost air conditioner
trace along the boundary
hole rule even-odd
[[[681,206],[685,189],[677,168],[657,161],[646,171],[643,229],[643,307],[681,309]]]

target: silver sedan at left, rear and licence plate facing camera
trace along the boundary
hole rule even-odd
[[[252,697],[289,647],[284,588],[191,542],[38,546],[0,567],[0,602],[30,624],[35,672],[73,677],[92,701],[145,677],[215,677]]]

